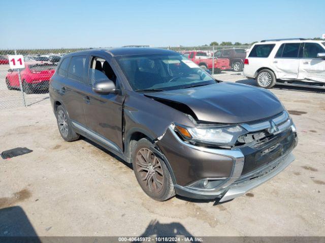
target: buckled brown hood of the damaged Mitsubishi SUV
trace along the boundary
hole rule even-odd
[[[268,90],[228,82],[145,95],[185,104],[199,120],[212,123],[247,123],[284,109]]]

